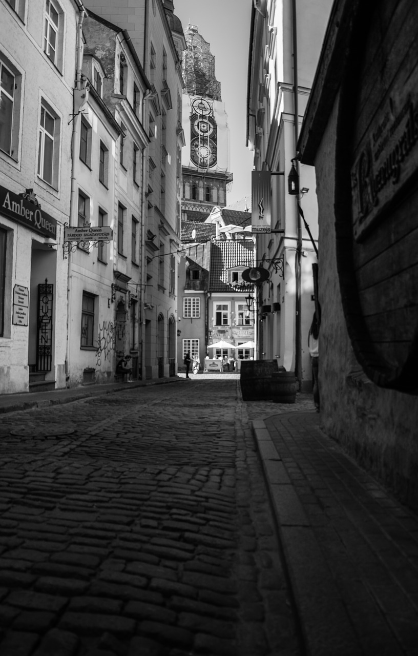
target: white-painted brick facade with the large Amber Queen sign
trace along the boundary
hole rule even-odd
[[[71,204],[71,117],[84,12],[82,3],[73,0],[2,0],[0,12],[4,394],[66,385],[63,243]]]

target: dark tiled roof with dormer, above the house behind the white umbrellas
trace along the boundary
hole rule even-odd
[[[244,266],[256,266],[256,246],[252,242],[214,241],[210,245],[209,291],[248,291],[249,283],[239,286],[229,282],[229,270]]]

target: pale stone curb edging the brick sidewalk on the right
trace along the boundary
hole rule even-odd
[[[263,420],[251,422],[306,653],[354,656],[361,647],[303,504]]]

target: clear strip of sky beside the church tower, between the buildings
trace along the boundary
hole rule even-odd
[[[244,196],[251,198],[253,154],[246,146],[248,47],[252,0],[174,0],[174,13],[183,30],[191,23],[210,43],[215,75],[228,115],[229,171],[233,184],[227,205]]]

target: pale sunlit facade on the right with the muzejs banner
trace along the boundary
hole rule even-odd
[[[261,195],[270,213],[269,230],[257,233],[257,264],[269,272],[257,299],[259,358],[276,358],[295,371],[304,390],[312,384],[308,333],[315,310],[318,209],[314,169],[295,159],[296,143],[330,5],[330,0],[314,7],[309,0],[257,0],[250,28],[247,143],[254,171],[264,174]],[[292,160],[301,191],[290,195]],[[258,192],[259,181],[253,193]],[[253,195],[255,225],[258,200]]]

